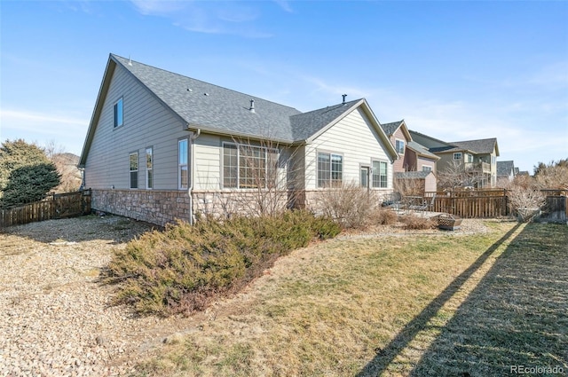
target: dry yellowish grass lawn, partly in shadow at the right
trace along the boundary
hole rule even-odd
[[[568,228],[344,238],[296,250],[195,316],[137,375],[568,371]]]

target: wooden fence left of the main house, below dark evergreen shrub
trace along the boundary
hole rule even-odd
[[[0,227],[91,213],[91,190],[54,193],[19,207],[0,209]]]

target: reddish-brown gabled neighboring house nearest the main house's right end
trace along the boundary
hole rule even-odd
[[[395,181],[418,180],[419,185],[412,186],[422,187],[422,193],[424,190],[436,192],[436,162],[440,158],[413,140],[404,120],[383,123],[381,127],[398,153],[398,160],[393,163]],[[414,174],[422,171],[432,174]]]

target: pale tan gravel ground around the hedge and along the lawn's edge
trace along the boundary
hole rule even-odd
[[[0,233],[0,377],[127,375],[171,334],[198,327],[199,316],[137,318],[109,305],[113,287],[99,283],[100,269],[114,247],[149,229],[120,216],[83,216]],[[464,220],[452,233],[472,232],[485,225]],[[384,234],[405,232],[383,227],[341,237]]]

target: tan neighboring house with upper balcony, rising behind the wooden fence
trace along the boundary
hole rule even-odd
[[[477,187],[495,187],[497,184],[497,138],[445,142],[413,130],[409,132],[414,141],[440,157],[438,176],[448,167],[456,165],[469,176],[475,177]]]

